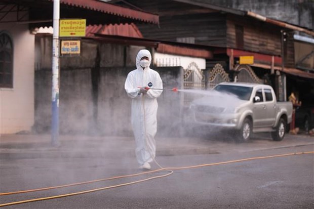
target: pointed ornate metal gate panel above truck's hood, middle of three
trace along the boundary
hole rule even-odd
[[[225,72],[221,64],[217,63],[213,69],[209,71],[207,88],[213,89],[218,83],[229,81],[229,74]]]

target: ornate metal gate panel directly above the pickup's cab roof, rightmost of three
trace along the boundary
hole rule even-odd
[[[249,65],[237,65],[234,71],[238,71],[234,80],[239,82],[263,83],[263,79],[257,77]]]

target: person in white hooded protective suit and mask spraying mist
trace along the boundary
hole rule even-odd
[[[125,82],[125,90],[132,98],[131,123],[136,143],[136,159],[139,169],[150,169],[155,157],[155,135],[157,132],[156,98],[162,94],[163,81],[158,72],[149,68],[151,55],[140,50],[136,57],[136,70],[131,71]],[[152,88],[152,89],[149,89]]]

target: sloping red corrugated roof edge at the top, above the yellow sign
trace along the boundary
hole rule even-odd
[[[50,0],[53,1],[53,0]],[[159,24],[159,16],[155,14],[150,14],[147,12],[132,10],[129,8],[120,7],[117,5],[112,5],[104,2],[99,2],[97,0],[60,0],[60,4],[85,8],[89,10],[94,10],[98,12],[103,12],[106,14],[113,14],[116,16],[121,16],[125,18],[131,18],[135,20],[141,20],[144,22]]]

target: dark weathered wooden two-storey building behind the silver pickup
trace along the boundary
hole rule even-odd
[[[145,38],[213,47],[214,57],[207,60],[207,69],[204,71],[207,78],[215,79],[212,71],[219,63],[229,73],[231,80],[237,77],[239,81],[272,85],[279,100],[286,100],[289,94],[286,75],[310,80],[314,78],[312,61],[309,61],[307,71],[296,65],[295,48],[298,46],[293,36],[298,32],[312,38],[314,32],[306,28],[248,11],[191,0],[128,0],[128,4],[119,0],[112,2],[160,16],[158,26],[138,25]],[[311,47],[314,45],[304,44],[309,48],[308,56],[312,56]],[[243,62],[240,59],[243,56],[251,56],[252,60]]]

